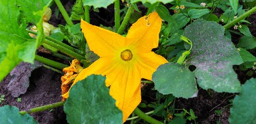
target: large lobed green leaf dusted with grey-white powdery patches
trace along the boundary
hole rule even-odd
[[[216,22],[196,20],[185,28],[184,36],[193,43],[187,64],[196,66],[199,86],[239,92],[240,82],[232,66],[243,61],[232,41],[224,36],[224,28]],[[185,47],[189,49],[190,45]]]

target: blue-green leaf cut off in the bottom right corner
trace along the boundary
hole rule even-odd
[[[256,123],[256,79],[248,80],[241,87],[240,94],[233,101],[229,122]]]

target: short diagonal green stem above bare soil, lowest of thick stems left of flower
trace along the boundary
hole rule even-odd
[[[35,55],[35,60],[37,60],[45,65],[52,66],[52,67],[55,67],[55,68],[61,69],[61,70],[65,67],[69,67],[68,65],[61,64],[56,61],[53,61],[53,60],[50,60],[50,59],[47,59],[47,58],[44,58],[44,57],[41,57],[38,55]]]

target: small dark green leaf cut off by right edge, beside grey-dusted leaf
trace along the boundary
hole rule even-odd
[[[254,49],[256,47],[256,38],[244,36],[239,40],[236,46],[237,48],[244,48],[246,50]]]

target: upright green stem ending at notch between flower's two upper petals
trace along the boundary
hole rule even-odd
[[[116,0],[114,2],[114,25],[116,27],[116,32],[120,27],[120,1]]]

